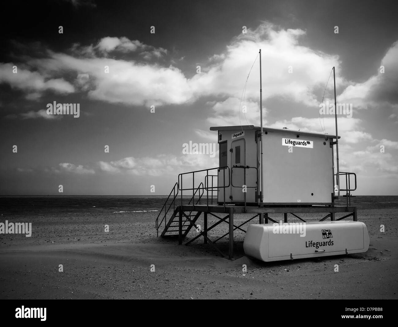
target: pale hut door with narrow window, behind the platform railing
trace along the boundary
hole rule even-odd
[[[233,168],[234,164],[238,166],[244,166],[246,164],[245,156],[245,139],[238,139],[231,143],[231,195],[232,202],[243,202],[244,201],[244,169]]]

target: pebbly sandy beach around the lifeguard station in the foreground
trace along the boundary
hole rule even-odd
[[[246,257],[240,231],[235,232],[233,261],[203,244],[203,238],[189,246],[179,246],[173,238],[157,238],[156,216],[157,212],[141,212],[8,218],[32,222],[32,236],[0,234],[0,298],[398,298],[394,207],[359,211],[358,220],[369,230],[371,245],[366,253],[274,263]],[[235,221],[243,222],[246,217],[235,215]],[[302,217],[315,220],[310,215]],[[104,231],[106,224],[109,232]],[[384,233],[380,224],[385,225]],[[220,224],[209,237],[214,240],[227,228]],[[192,230],[187,239],[195,234]],[[228,252],[227,241],[224,238],[219,243],[224,253]],[[242,271],[244,264],[247,272]],[[334,271],[336,264],[338,272]]]

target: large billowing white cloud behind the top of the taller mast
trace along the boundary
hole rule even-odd
[[[282,97],[309,106],[318,105],[316,92],[324,85],[332,66],[339,68],[338,56],[300,45],[301,29],[281,29],[265,22],[257,29],[241,33],[223,54],[203,63],[201,74],[189,81],[193,92],[240,98],[244,82],[261,48],[263,58],[263,99]],[[215,64],[213,62],[216,61]],[[293,72],[289,73],[289,68]],[[259,99],[259,59],[257,58],[246,87],[246,99]],[[338,77],[339,85],[346,83]]]

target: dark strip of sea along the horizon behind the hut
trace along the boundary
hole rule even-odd
[[[167,196],[158,195],[59,195],[59,196],[1,196],[0,217],[62,215],[79,213],[144,213],[162,210]],[[187,204],[190,196],[184,196],[183,204]],[[351,197],[351,206],[363,209],[398,208],[396,195],[364,195]],[[210,203],[209,199],[209,203]],[[341,197],[336,205],[346,205],[347,198]],[[213,200],[215,204],[216,199]],[[181,197],[176,199],[176,205]],[[201,201],[206,204],[206,199]],[[170,205],[170,199],[167,203]],[[164,208],[163,208],[164,210]]]

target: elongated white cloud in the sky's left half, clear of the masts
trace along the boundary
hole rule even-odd
[[[52,53],[51,58],[34,63],[48,73],[66,70],[75,72],[76,78],[88,75],[88,97],[93,100],[146,106],[181,104],[190,100],[185,77],[172,66],[164,68],[111,58],[75,58],[61,53]],[[109,74],[105,73],[105,66],[109,67]],[[77,83],[84,86],[81,79]]]

